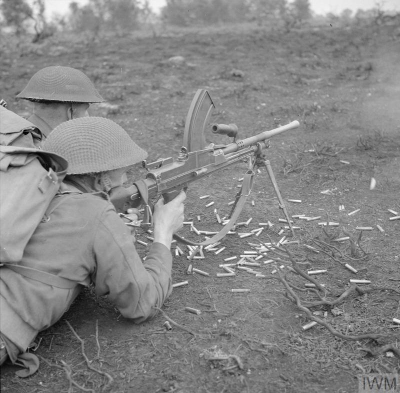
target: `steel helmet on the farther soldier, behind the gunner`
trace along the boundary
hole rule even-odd
[[[75,68],[61,66],[45,67],[37,71],[16,97],[30,101],[104,101],[85,74]]]

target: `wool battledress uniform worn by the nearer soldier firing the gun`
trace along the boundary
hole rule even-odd
[[[103,193],[68,186],[50,205],[54,210],[29,240],[20,264],[75,282],[58,288],[7,267],[0,275],[0,333],[15,362],[15,347],[24,352],[36,334],[57,322],[84,285],[108,295],[120,313],[139,323],[155,314],[171,293],[172,256],[153,243],[144,263],[128,227]],[[76,191],[76,193],[75,193]]]

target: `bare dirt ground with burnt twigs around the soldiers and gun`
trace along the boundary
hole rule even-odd
[[[320,218],[293,218],[299,229],[291,236],[262,170],[240,215],[252,220],[236,231],[268,220],[273,226],[258,236],[228,235],[218,246],[226,248],[204,252],[205,259],[189,262],[188,249],[180,246],[184,254],[174,258],[172,279],[188,285],[174,288],[162,312],[141,325],[84,291],[40,333],[39,371],[20,379],[14,367],[2,367],[1,391],[353,393],[357,373],[399,372],[400,328],[392,318],[400,318],[400,221],[390,220],[388,211],[400,211],[399,39],[396,26],[290,33],[239,26],[93,42],[57,37],[13,49],[3,43],[1,98],[11,110],[29,112],[29,103],[14,96],[38,69],[78,68],[107,100],[93,105],[91,114],[119,123],[149,160],[176,156],[198,88],[208,89],[216,105],[212,123],[235,123],[242,138],[298,120],[297,130],[271,139],[267,157],[289,214]],[[169,61],[173,56],[184,62]],[[229,213],[245,170],[237,164],[191,186],[186,219],[197,229],[219,229],[213,209],[221,217]],[[210,197],[199,199],[204,194]],[[214,205],[205,207],[210,201]],[[323,230],[322,221],[340,225]],[[181,234],[196,238],[188,226]],[[148,242],[146,235],[137,238]],[[326,269],[312,276],[326,294],[305,289],[309,281],[288,267],[271,274],[275,266],[263,263],[276,257],[270,251],[253,267],[268,278],[237,268],[233,277],[216,277],[225,258],[239,259],[254,250],[251,244],[282,236],[298,240],[279,247],[283,264],[305,273]],[[146,247],[137,248],[144,256]],[[189,263],[209,276],[186,274]],[[350,279],[370,284],[355,287]],[[237,288],[249,292],[231,293]],[[310,318],[318,324],[303,331]],[[171,330],[163,326],[167,319],[176,323]]]

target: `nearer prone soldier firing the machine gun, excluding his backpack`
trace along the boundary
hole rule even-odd
[[[121,315],[139,323],[153,316],[172,291],[172,234],[183,224],[182,191],[153,213],[153,243],[142,263],[108,198],[126,169],[147,153],[116,123],[82,117],[58,125],[43,144],[68,161],[64,185],[50,202],[20,262],[1,265],[0,364],[7,358],[28,368],[26,353],[37,333],[58,321],[84,286],[108,295]],[[137,220],[132,209],[129,220]]]

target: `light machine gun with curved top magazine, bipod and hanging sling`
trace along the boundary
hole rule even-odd
[[[269,160],[264,157],[263,149],[268,147],[267,140],[269,138],[297,128],[299,126],[298,121],[292,121],[284,126],[264,131],[245,139],[238,139],[237,127],[234,124],[212,124],[212,133],[227,135],[233,138],[233,142],[227,145],[210,144],[205,147],[204,131],[208,127],[208,119],[213,108],[214,104],[208,92],[205,89],[197,90],[187,114],[183,147],[181,147],[177,158],[168,157],[151,163],[143,161],[143,167],[147,170],[145,179],[136,181],[132,186],[127,188],[116,187],[111,190],[110,199],[116,211],[124,213],[127,208],[137,207],[141,203],[145,207],[144,223],[142,225],[150,225],[152,220],[148,199],[162,195],[164,201],[168,202],[181,189],[186,189],[189,183],[209,176],[237,162],[247,161],[249,169],[245,173],[241,189],[236,195],[228,224],[224,225],[224,228],[218,234],[201,243],[191,242],[178,235],[174,235],[174,238],[183,243],[194,245],[212,244],[220,240],[234,225],[247,196],[251,192],[253,177],[257,169],[262,166],[266,168],[278,198],[279,207],[283,210],[287,223],[293,233],[286,207],[280,195]]]

